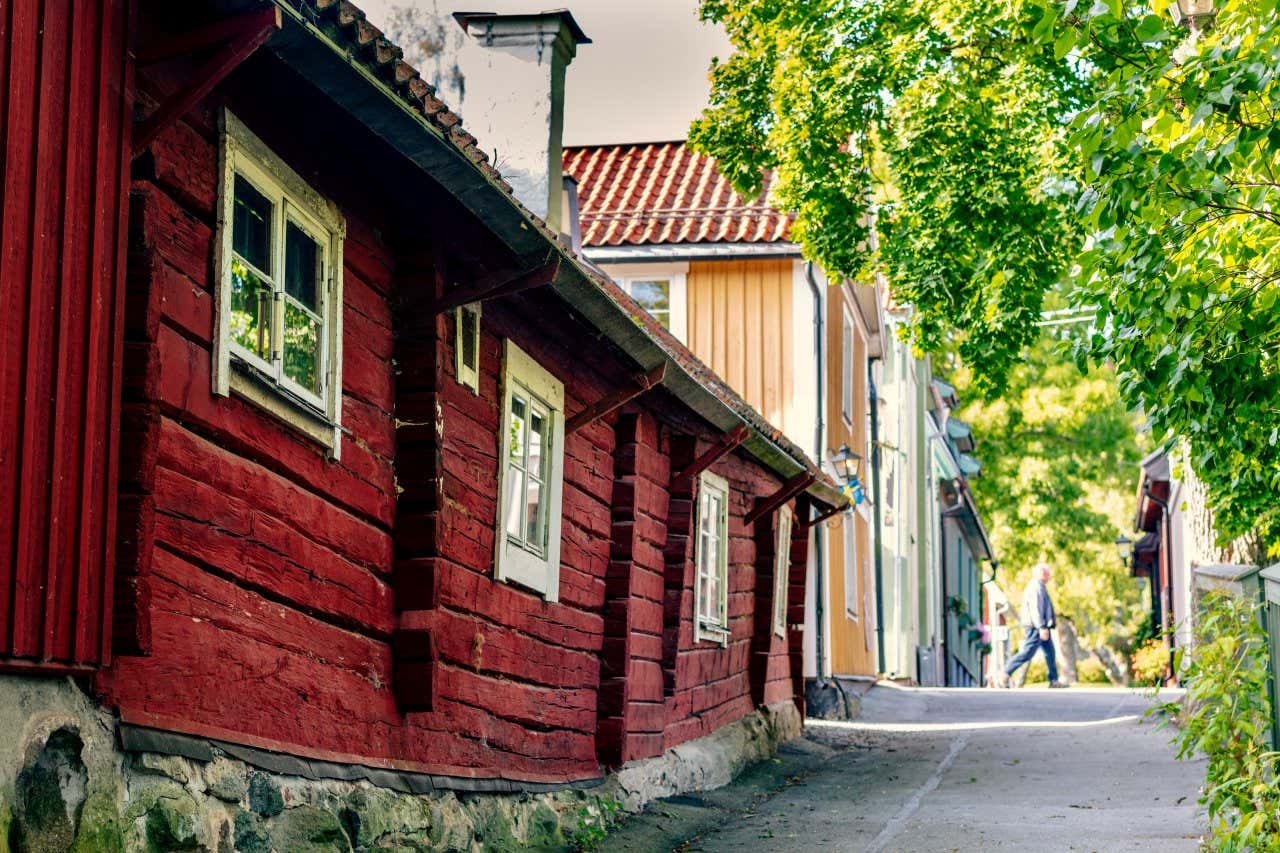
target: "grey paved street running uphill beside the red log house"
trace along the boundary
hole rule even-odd
[[[1196,850],[1198,762],[1121,689],[877,686],[782,761],[677,798],[605,849]],[[772,780],[772,781],[771,781]]]

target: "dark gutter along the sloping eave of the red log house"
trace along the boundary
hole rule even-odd
[[[663,346],[662,336],[657,330],[646,330],[641,318],[630,315],[614,301],[605,292],[605,286],[593,278],[582,261],[572,256],[541,220],[525,210],[499,186],[497,178],[481,172],[413,104],[380,79],[375,69],[361,59],[362,47],[353,41],[344,46],[321,29],[319,18],[312,20],[316,14],[305,0],[273,1],[282,12],[283,26],[262,50],[300,72],[325,97],[399,151],[463,207],[485,222],[517,257],[538,259],[544,264],[548,250],[556,251],[561,256],[561,269],[549,287],[632,359],[640,371],[648,373],[666,365],[662,386],[712,426],[724,433],[748,426],[750,435],[741,448],[760,464],[785,480],[815,470],[803,451],[792,453],[781,444],[781,433],[773,430],[763,418],[739,412],[694,378],[685,362]],[[340,33],[337,38],[351,41]],[[828,506],[846,502],[824,475],[819,475],[806,491]]]

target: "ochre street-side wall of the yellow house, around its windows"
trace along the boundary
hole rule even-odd
[[[849,316],[854,330],[852,365],[852,418],[845,419],[842,411],[842,368],[844,368],[844,323]],[[868,330],[861,320],[858,305],[847,286],[831,287],[827,291],[827,435],[831,450],[841,444],[863,456],[861,479],[870,475],[870,453],[868,452],[868,375],[867,375]],[[868,500],[870,494],[868,493]],[[864,505],[867,506],[867,505]],[[845,528],[852,525],[858,566],[851,573],[858,584],[858,616],[852,617],[845,608]],[[826,524],[827,528],[827,589],[829,607],[827,621],[831,629],[831,669],[833,675],[874,675],[876,674],[876,633],[874,633],[874,578],[870,570],[869,519],[854,512],[841,514]]]

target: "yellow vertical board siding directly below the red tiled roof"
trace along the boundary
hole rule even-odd
[[[788,434],[792,270],[790,259],[692,261],[686,284],[689,348]]]

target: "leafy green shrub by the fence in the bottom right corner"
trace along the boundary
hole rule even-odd
[[[1206,594],[1190,653],[1179,649],[1174,663],[1187,697],[1153,708],[1179,719],[1179,758],[1208,758],[1199,802],[1210,848],[1225,853],[1280,850],[1280,753],[1267,745],[1267,638],[1257,608],[1225,592]]]

